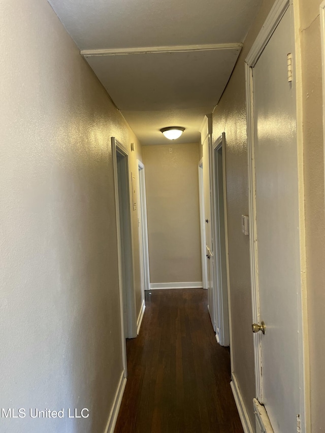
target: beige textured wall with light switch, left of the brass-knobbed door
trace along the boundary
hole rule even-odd
[[[230,301],[233,362],[244,404],[255,425],[255,397],[249,238],[241,231],[241,215],[248,215],[248,169],[244,61],[273,1],[265,1],[248,32],[233,75],[213,112],[213,141],[225,132],[226,194],[229,243]]]

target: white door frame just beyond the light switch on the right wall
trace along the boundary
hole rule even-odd
[[[222,179],[223,179],[223,207],[224,207],[224,237],[225,237],[225,251],[222,252],[221,240],[220,240],[220,228],[219,228],[219,193],[216,188],[217,182],[217,169],[215,166],[215,152],[222,149]],[[216,323],[216,339],[221,346],[230,345],[230,314],[229,314],[229,260],[228,260],[228,226],[227,226],[227,208],[226,208],[226,178],[225,178],[225,134],[222,132],[221,136],[218,137],[212,146],[211,155],[211,169],[212,169],[212,182],[211,182],[211,199],[213,209],[213,220],[212,220],[212,236],[213,245],[215,250],[215,266],[214,266],[214,290],[215,290],[215,308],[217,313]],[[226,269],[226,287],[222,284],[222,265],[221,255],[224,254]]]

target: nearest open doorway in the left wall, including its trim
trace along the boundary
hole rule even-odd
[[[114,168],[123,363],[126,371],[125,338],[137,337],[128,151],[114,137],[111,139],[111,145]]]

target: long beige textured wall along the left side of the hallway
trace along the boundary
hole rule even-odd
[[[45,0],[0,11],[0,406],[90,410],[0,429],[102,432],[122,372],[110,137],[133,170],[141,149]]]

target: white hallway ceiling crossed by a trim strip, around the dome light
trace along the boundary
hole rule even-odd
[[[159,129],[174,125],[186,128],[177,143],[199,141],[204,115],[228,82],[261,0],[49,3],[141,143],[149,145],[171,143]]]

